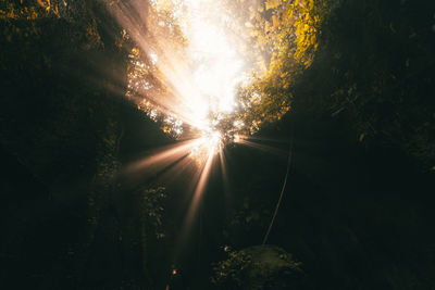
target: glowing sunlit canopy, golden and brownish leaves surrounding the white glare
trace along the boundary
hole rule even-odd
[[[211,10],[214,15],[208,15],[203,7],[194,2],[151,1],[146,22],[148,33],[144,39],[136,39],[136,43],[146,42],[147,46],[140,48],[139,45],[130,51],[127,97],[135,99],[141,110],[159,119],[163,130],[174,137],[182,135],[183,124],[187,123],[194,129],[217,130],[226,141],[232,141],[234,136],[253,134],[263,124],[279,119],[290,108],[289,87],[313,61],[321,23],[327,16],[331,3],[313,0],[223,1],[207,3],[208,11],[210,7],[215,8]],[[201,16],[197,16],[198,13]],[[204,80],[209,87],[222,86],[220,83],[224,81],[223,86],[228,88],[220,96],[186,88],[196,85],[197,74],[207,74],[204,65],[208,71],[219,65],[215,54],[189,51],[189,48],[199,50],[203,46],[195,41],[211,41],[195,39],[199,20],[202,21],[202,34],[215,33],[213,25],[221,24],[223,28],[216,37],[222,33],[222,42],[226,47],[219,53],[237,55],[220,60],[225,62],[223,70],[238,65],[237,59],[241,59],[240,68],[236,68],[234,75],[237,83],[225,83],[221,72],[215,72],[211,81]],[[228,52],[228,47],[234,51]],[[181,86],[181,79],[187,86]],[[233,100],[227,101],[232,102],[227,108],[221,106],[225,98]],[[189,102],[202,102],[203,108],[189,108]],[[202,119],[187,117],[198,110],[201,112],[196,117]]]

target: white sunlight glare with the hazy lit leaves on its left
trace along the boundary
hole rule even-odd
[[[162,121],[165,133],[197,139],[191,155],[215,154],[228,135],[217,125],[234,113],[236,89],[247,70],[222,25],[229,17],[222,4],[210,0],[154,0],[151,7],[157,18],[144,20],[151,36],[132,33],[134,22],[121,15],[138,45],[130,53],[127,97]],[[192,136],[185,136],[186,126]]]

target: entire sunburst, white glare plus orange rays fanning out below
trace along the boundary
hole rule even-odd
[[[147,175],[153,181],[166,182],[182,174],[191,176],[184,189],[187,197],[192,196],[181,228],[183,244],[217,160],[224,190],[229,191],[225,143],[236,141],[272,149],[233,137],[245,126],[234,119],[238,110],[236,90],[251,77],[247,76],[248,65],[235,45],[245,41],[244,36],[232,30],[231,17],[225,21],[228,27],[223,27],[222,3],[212,0],[140,3],[127,5],[117,1],[112,8],[135,46],[129,53],[126,96],[151,119],[160,119],[166,126],[163,130],[175,135],[178,141],[127,165],[125,174]],[[165,16],[159,18],[159,15]],[[182,29],[178,35],[177,27]]]

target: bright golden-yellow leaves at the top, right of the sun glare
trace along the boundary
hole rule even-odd
[[[258,10],[249,25],[257,46],[271,53],[269,74],[284,65],[285,59],[310,66],[328,4],[327,0],[269,0]]]

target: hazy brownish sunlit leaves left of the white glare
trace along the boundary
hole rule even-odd
[[[134,36],[132,27],[124,30],[123,37],[134,42],[128,55],[126,97],[159,122],[164,133],[178,137],[183,123],[174,114],[178,101],[172,80],[186,68],[187,39],[173,1],[153,1],[147,9],[145,31]]]

